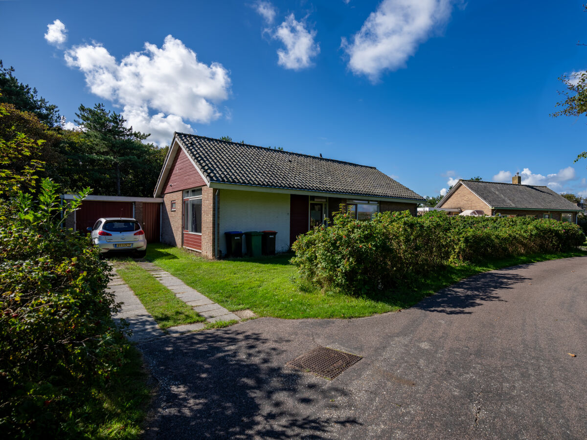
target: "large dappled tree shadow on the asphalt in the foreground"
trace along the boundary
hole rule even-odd
[[[285,342],[233,328],[141,344],[160,384],[144,438],[325,439],[360,425],[334,414],[347,391],[275,361]]]

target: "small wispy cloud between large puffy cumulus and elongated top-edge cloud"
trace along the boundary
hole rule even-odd
[[[273,38],[285,45],[285,50],[277,51],[278,65],[293,70],[312,66],[312,57],[320,53],[315,37],[316,31],[308,31],[305,22],[297,21],[293,13],[289,14],[273,33]]]

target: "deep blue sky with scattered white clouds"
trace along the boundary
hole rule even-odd
[[[158,143],[321,153],[421,195],[519,171],[587,197],[587,121],[549,117],[587,68],[583,2],[0,0],[0,58],[68,121],[103,102]]]

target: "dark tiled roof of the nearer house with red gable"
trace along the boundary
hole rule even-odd
[[[176,134],[210,182],[423,200],[375,167]]]

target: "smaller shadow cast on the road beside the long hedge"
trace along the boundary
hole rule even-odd
[[[485,272],[471,276],[453,286],[440,290],[436,295],[429,296],[414,309],[446,314],[470,314],[473,307],[480,306],[487,301],[506,301],[500,290],[514,289],[518,283],[529,280],[528,277],[514,273],[516,268],[501,269],[497,272]]]

